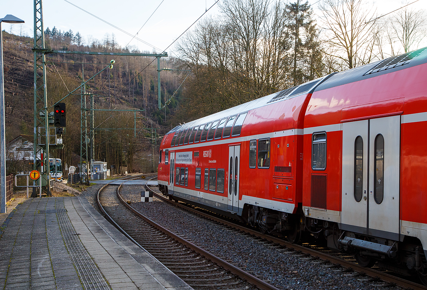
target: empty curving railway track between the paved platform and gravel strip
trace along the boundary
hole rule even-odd
[[[193,289],[278,290],[137,212],[121,198],[120,187],[106,184],[98,191],[105,217]]]

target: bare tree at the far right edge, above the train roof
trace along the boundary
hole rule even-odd
[[[416,48],[426,33],[425,11],[405,7],[397,11],[391,20],[395,37],[402,44],[405,52],[409,52],[413,46]]]

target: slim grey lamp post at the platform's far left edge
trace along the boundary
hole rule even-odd
[[[3,37],[1,23],[24,23],[23,20],[7,14],[0,19],[0,213],[6,212],[6,138],[4,129],[4,80],[3,80]]]

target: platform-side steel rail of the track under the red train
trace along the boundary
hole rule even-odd
[[[154,179],[154,178],[151,178],[149,180],[152,180],[152,179]],[[325,261],[329,261],[332,264],[339,264],[342,267],[351,268],[351,269],[353,269],[353,270],[355,270],[357,272],[365,273],[366,275],[368,275],[368,276],[370,276],[372,278],[379,278],[379,279],[381,279],[383,281],[386,281],[386,282],[389,282],[389,283],[394,283],[394,284],[396,284],[396,285],[398,285],[400,287],[404,287],[404,288],[407,288],[407,289],[414,289],[414,290],[425,290],[425,289],[427,289],[427,287],[425,287],[424,285],[421,285],[421,284],[418,284],[418,283],[415,283],[415,282],[412,282],[412,281],[408,281],[408,280],[405,280],[405,279],[402,279],[402,278],[399,278],[399,277],[396,277],[396,276],[393,276],[393,275],[390,275],[390,274],[387,274],[387,273],[383,273],[383,272],[378,271],[378,270],[374,270],[374,269],[362,267],[359,264],[356,264],[356,263],[353,263],[353,262],[350,262],[350,261],[345,261],[345,260],[343,260],[341,258],[337,258],[337,257],[331,256],[331,255],[328,255],[326,253],[322,253],[322,252],[319,252],[319,251],[316,251],[316,250],[312,250],[312,249],[309,249],[309,248],[306,248],[306,247],[303,247],[303,246],[300,246],[300,245],[297,245],[297,244],[292,244],[292,243],[284,241],[284,240],[282,240],[280,238],[276,238],[276,237],[273,237],[273,236],[270,236],[270,235],[264,235],[264,234],[262,234],[260,232],[255,231],[255,230],[251,230],[249,228],[242,227],[242,226],[239,226],[237,224],[233,224],[233,223],[231,223],[229,221],[225,221],[225,220],[223,220],[221,218],[216,218],[216,217],[214,217],[212,215],[208,215],[205,212],[201,212],[201,211],[195,210],[195,209],[193,209],[191,207],[188,207],[188,206],[186,206],[184,204],[180,204],[178,202],[173,202],[169,198],[166,198],[163,195],[158,194],[157,192],[155,192],[154,190],[152,190],[148,186],[146,186],[146,187],[148,188],[148,190],[150,190],[151,192],[153,192],[153,194],[155,194],[158,198],[161,198],[164,201],[168,201],[171,204],[175,204],[175,205],[177,205],[177,206],[179,206],[181,208],[184,208],[186,210],[190,210],[191,212],[194,212],[194,213],[197,213],[199,215],[202,215],[205,218],[209,218],[209,219],[211,219],[213,221],[217,221],[217,222],[225,224],[225,225],[227,225],[229,227],[233,227],[233,228],[235,228],[237,230],[241,230],[241,231],[243,231],[245,233],[249,233],[249,234],[255,235],[255,236],[259,237],[259,238],[266,239],[267,241],[271,241],[271,242],[280,244],[282,246],[288,247],[288,248],[296,250],[296,251],[301,251],[302,253],[305,253],[305,254],[310,254],[311,256],[318,257],[318,258],[320,258],[322,260],[325,260]]]

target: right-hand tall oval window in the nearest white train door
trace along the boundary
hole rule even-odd
[[[384,137],[378,134],[375,137],[375,169],[374,169],[374,199],[377,204],[384,198]]]

